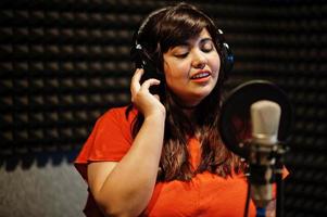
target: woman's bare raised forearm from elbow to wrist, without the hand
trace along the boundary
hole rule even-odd
[[[156,180],[163,135],[164,116],[144,119],[128,153],[93,192],[105,213],[136,216],[146,208]]]

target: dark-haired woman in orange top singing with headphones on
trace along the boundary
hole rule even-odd
[[[138,59],[147,56],[161,80],[142,81],[151,74],[136,69],[133,104],[98,119],[76,159],[90,189],[87,216],[243,215],[243,166],[217,131],[227,68],[219,37],[212,20],[186,3],[142,23],[133,58],[144,66]],[[249,212],[255,214],[252,202]]]

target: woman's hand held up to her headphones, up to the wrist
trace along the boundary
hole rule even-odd
[[[131,102],[144,115],[144,117],[149,117],[151,115],[165,115],[165,107],[160,102],[159,95],[152,94],[149,90],[151,86],[159,85],[160,80],[150,78],[143,84],[140,84],[143,73],[144,71],[142,68],[137,68],[131,78]]]

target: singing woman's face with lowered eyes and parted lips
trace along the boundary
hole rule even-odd
[[[171,48],[163,60],[167,87],[183,105],[199,104],[218,80],[221,59],[205,28],[185,44]]]

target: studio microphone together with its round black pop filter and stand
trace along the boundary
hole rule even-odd
[[[268,80],[241,84],[223,102],[218,126],[222,140],[231,152],[249,164],[250,191],[244,208],[247,216],[251,194],[259,207],[256,210],[265,210],[266,204],[275,196],[273,182],[277,190],[276,216],[282,216],[281,170],[292,120],[292,105],[286,92]]]

